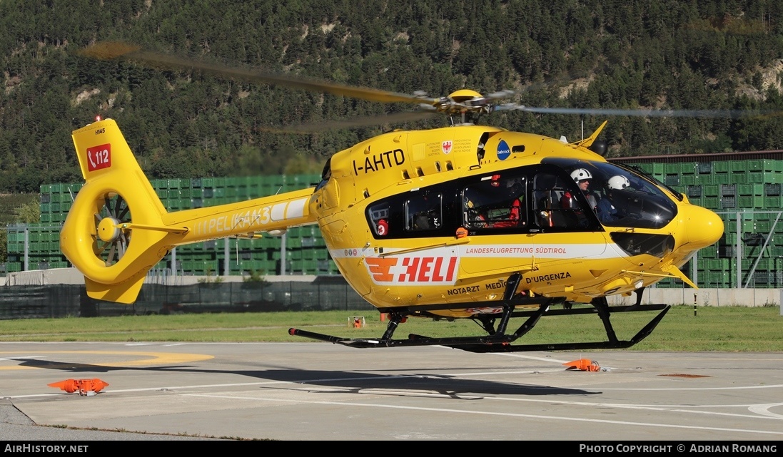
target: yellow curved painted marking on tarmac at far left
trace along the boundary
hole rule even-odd
[[[39,354],[47,356],[46,358],[38,358]],[[124,360],[121,362],[100,362],[99,360],[91,360],[90,362],[65,362],[63,360],[49,360],[49,355],[52,354],[91,354],[91,355],[112,355],[112,356],[129,356],[139,358],[137,360]],[[73,365],[95,365],[95,366],[144,366],[144,365],[171,365],[174,363],[193,363],[200,362],[202,360],[209,360],[215,358],[214,355],[207,354],[179,354],[175,352],[136,352],[136,351],[16,351],[16,352],[2,352],[0,351],[0,359],[5,359],[9,362],[20,362],[20,359],[34,358],[34,361],[25,360],[26,366],[2,366],[0,370],[9,369],[41,369],[41,368],[53,368],[56,366],[73,366]],[[143,358],[143,359],[140,359]],[[36,366],[35,361],[40,360],[40,365]],[[2,362],[0,362],[2,363]]]

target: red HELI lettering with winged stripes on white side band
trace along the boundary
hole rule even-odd
[[[366,257],[376,284],[452,285],[459,257]]]

